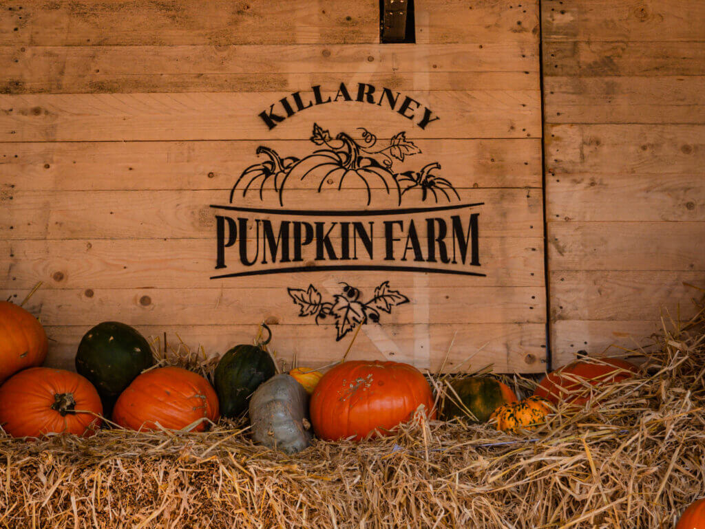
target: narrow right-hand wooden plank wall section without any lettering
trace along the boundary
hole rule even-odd
[[[551,344],[635,347],[705,287],[705,4],[541,2]],[[619,349],[611,349],[619,353]]]

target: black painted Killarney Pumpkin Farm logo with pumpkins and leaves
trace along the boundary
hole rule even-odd
[[[353,100],[342,83],[335,99],[313,88],[308,105],[297,92],[293,105],[288,98],[279,101],[283,113],[273,104],[259,117],[271,130],[314,104]],[[395,99],[383,89],[379,101],[373,96],[374,87],[361,83],[360,102],[381,106],[386,98],[395,109],[399,94]],[[412,119],[410,108],[420,104],[407,99],[398,112]],[[425,108],[416,125],[439,119],[432,116]],[[414,166],[412,156],[421,149],[405,131],[381,140],[364,127],[332,135],[314,123],[309,141],[309,154],[301,157],[260,145],[259,161],[235,180],[229,204],[211,206],[220,271],[212,279],[352,270],[485,275],[479,271],[477,211],[483,203],[463,203],[438,161]],[[312,203],[325,207],[308,207]],[[302,318],[333,320],[336,340],[410,301],[389,280],[372,294],[346,282],[329,296],[314,285],[287,292]]]

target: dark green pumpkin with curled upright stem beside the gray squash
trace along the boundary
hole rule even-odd
[[[235,418],[243,413],[257,387],[276,375],[274,360],[264,349],[271,340],[271,331],[266,325],[262,328],[269,332],[264,342],[236,345],[223,355],[216,367],[214,386],[223,417]]]

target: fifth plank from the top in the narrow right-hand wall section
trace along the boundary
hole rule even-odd
[[[705,221],[705,171],[695,175],[558,173],[547,180],[548,220]],[[613,229],[621,230],[617,225]]]

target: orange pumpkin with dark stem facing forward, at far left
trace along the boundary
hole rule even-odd
[[[0,386],[0,425],[13,437],[88,437],[99,428],[102,413],[97,390],[73,371],[25,369]]]

